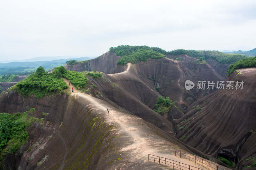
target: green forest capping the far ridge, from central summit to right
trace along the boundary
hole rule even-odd
[[[248,56],[241,54],[226,54],[216,50],[185,50],[177,49],[172,51],[165,51],[158,47],[148,46],[128,46],[121,45],[117,47],[109,48],[111,53],[115,52],[116,55],[122,56],[117,61],[117,65],[124,65],[128,62],[137,63],[138,61],[147,61],[148,58],[163,58],[165,55],[188,55],[193,58],[202,58],[207,61],[208,59],[214,59],[220,63],[232,64],[239,60],[243,60]]]

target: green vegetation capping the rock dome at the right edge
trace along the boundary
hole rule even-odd
[[[229,76],[235,69],[241,68],[249,68],[249,67],[256,67],[256,56],[255,57],[248,57],[243,60],[239,60],[238,62],[229,65],[227,75]]]

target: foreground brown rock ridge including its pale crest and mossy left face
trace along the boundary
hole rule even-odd
[[[69,87],[71,88],[71,87]],[[70,90],[70,89],[68,89]],[[148,154],[196,166],[175,157],[175,148],[193,153],[189,147],[163,130],[130,113],[120,112],[108,102],[77,92],[36,99],[17,92],[0,96],[0,112],[24,112],[44,117],[44,125],[29,128],[28,144],[21,160],[9,157],[4,166],[15,169],[170,169],[148,161]],[[107,109],[109,113],[107,113]],[[200,153],[200,152],[199,152]],[[9,165],[10,164],[10,165]],[[199,166],[199,168],[201,168]]]

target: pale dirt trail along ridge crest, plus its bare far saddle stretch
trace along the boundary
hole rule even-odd
[[[125,70],[118,74],[127,73],[130,66],[131,63],[128,63],[127,71]],[[68,90],[71,92],[72,85],[70,84],[69,86],[69,80],[64,79],[64,81],[67,83]],[[75,88],[73,87],[73,89]],[[156,133],[154,133],[141,118],[125,114],[105,101],[94,98],[88,94],[78,92],[76,89],[75,92],[71,93],[71,95],[77,100],[86,100],[93,103],[94,109],[105,117],[107,120],[106,122],[114,125],[120,134],[125,134],[125,137],[127,137],[127,146],[122,148],[120,152],[131,152],[131,158],[134,163],[137,163],[139,160],[146,162],[148,161],[148,154],[152,154],[203,169],[202,166],[197,166],[188,159],[180,159],[175,156],[173,154],[175,149],[174,147],[171,147],[174,145],[159,135],[156,135]],[[166,167],[166,169],[169,169],[169,167]]]

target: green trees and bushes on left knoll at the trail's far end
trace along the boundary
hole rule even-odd
[[[14,85],[12,90],[17,90],[23,96],[35,94],[37,98],[42,98],[45,94],[62,93],[63,89],[67,89],[68,85],[62,78],[70,80],[78,89],[84,87],[88,81],[83,73],[66,70],[63,66],[56,67],[52,73],[47,73],[40,66],[35,73]]]

